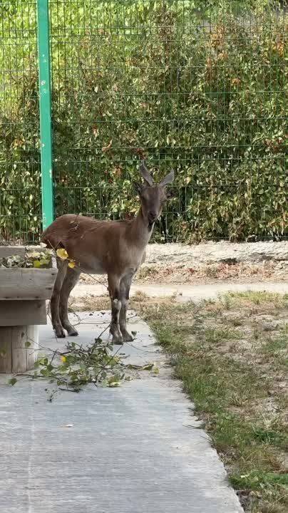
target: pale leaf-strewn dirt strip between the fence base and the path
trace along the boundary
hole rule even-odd
[[[253,283],[284,281],[287,276],[288,241],[150,244],[134,283]],[[106,277],[82,275],[81,282],[106,283]]]

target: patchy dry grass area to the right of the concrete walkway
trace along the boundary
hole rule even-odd
[[[288,320],[288,296],[245,292],[200,305],[165,299],[138,306],[170,353],[230,482],[249,495],[247,511],[288,511],[288,343],[275,322],[279,312]],[[273,333],[265,331],[267,312]]]

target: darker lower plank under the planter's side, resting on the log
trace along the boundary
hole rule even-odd
[[[45,299],[0,301],[0,326],[24,326],[25,323],[47,323]]]

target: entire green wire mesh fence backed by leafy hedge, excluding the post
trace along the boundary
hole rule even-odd
[[[35,2],[0,9],[1,236],[30,242],[41,208]],[[135,214],[145,157],[156,177],[176,174],[155,240],[287,235],[283,4],[50,0],[49,9],[56,215]]]

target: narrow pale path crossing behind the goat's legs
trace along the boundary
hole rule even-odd
[[[177,295],[178,301],[202,301],[202,299],[217,298],[219,294],[228,291],[269,291],[279,292],[280,294],[288,294],[288,278],[287,281],[279,281],[278,283],[269,283],[259,281],[252,284],[232,284],[232,283],[219,283],[219,284],[205,284],[205,285],[191,285],[191,284],[133,284],[131,287],[131,295],[136,292],[143,292],[147,296],[163,297]],[[103,296],[107,294],[105,285],[77,285],[73,289],[71,296],[83,297],[93,294],[94,296]]]

